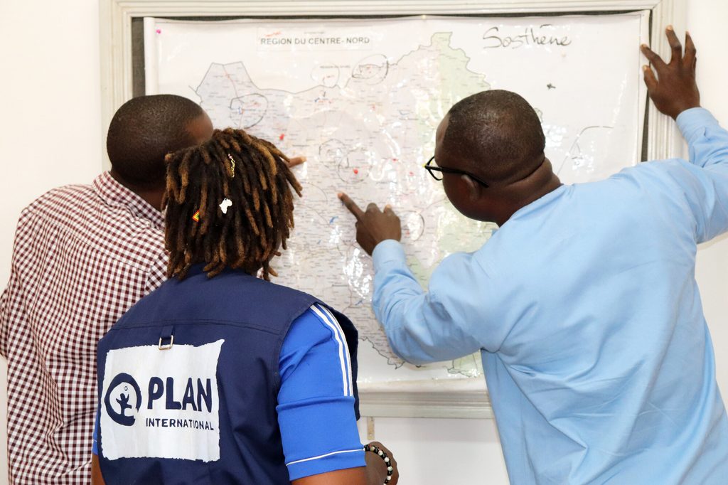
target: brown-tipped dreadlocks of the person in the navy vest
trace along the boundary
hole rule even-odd
[[[204,263],[209,277],[226,267],[276,276],[269,263],[293,229],[293,192],[301,196],[288,162],[272,143],[233,128],[167,155],[167,275],[182,280]]]

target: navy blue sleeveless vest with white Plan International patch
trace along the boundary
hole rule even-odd
[[[288,484],[278,360],[306,293],[202,266],[138,301],[98,344],[98,458],[113,484]],[[331,308],[330,308],[331,309]],[[347,337],[357,419],[357,331]]]

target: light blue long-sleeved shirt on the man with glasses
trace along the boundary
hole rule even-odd
[[[397,354],[481,351],[514,485],[728,484],[695,282],[697,243],[728,229],[728,133],[704,109],[677,122],[691,162],[561,186],[448,256],[427,292],[398,242],[374,250],[374,312]]]

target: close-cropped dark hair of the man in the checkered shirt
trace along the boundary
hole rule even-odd
[[[187,127],[203,114],[197,103],[177,95],[128,100],[108,127],[106,151],[111,167],[131,186],[164,186],[165,155],[195,143]]]

